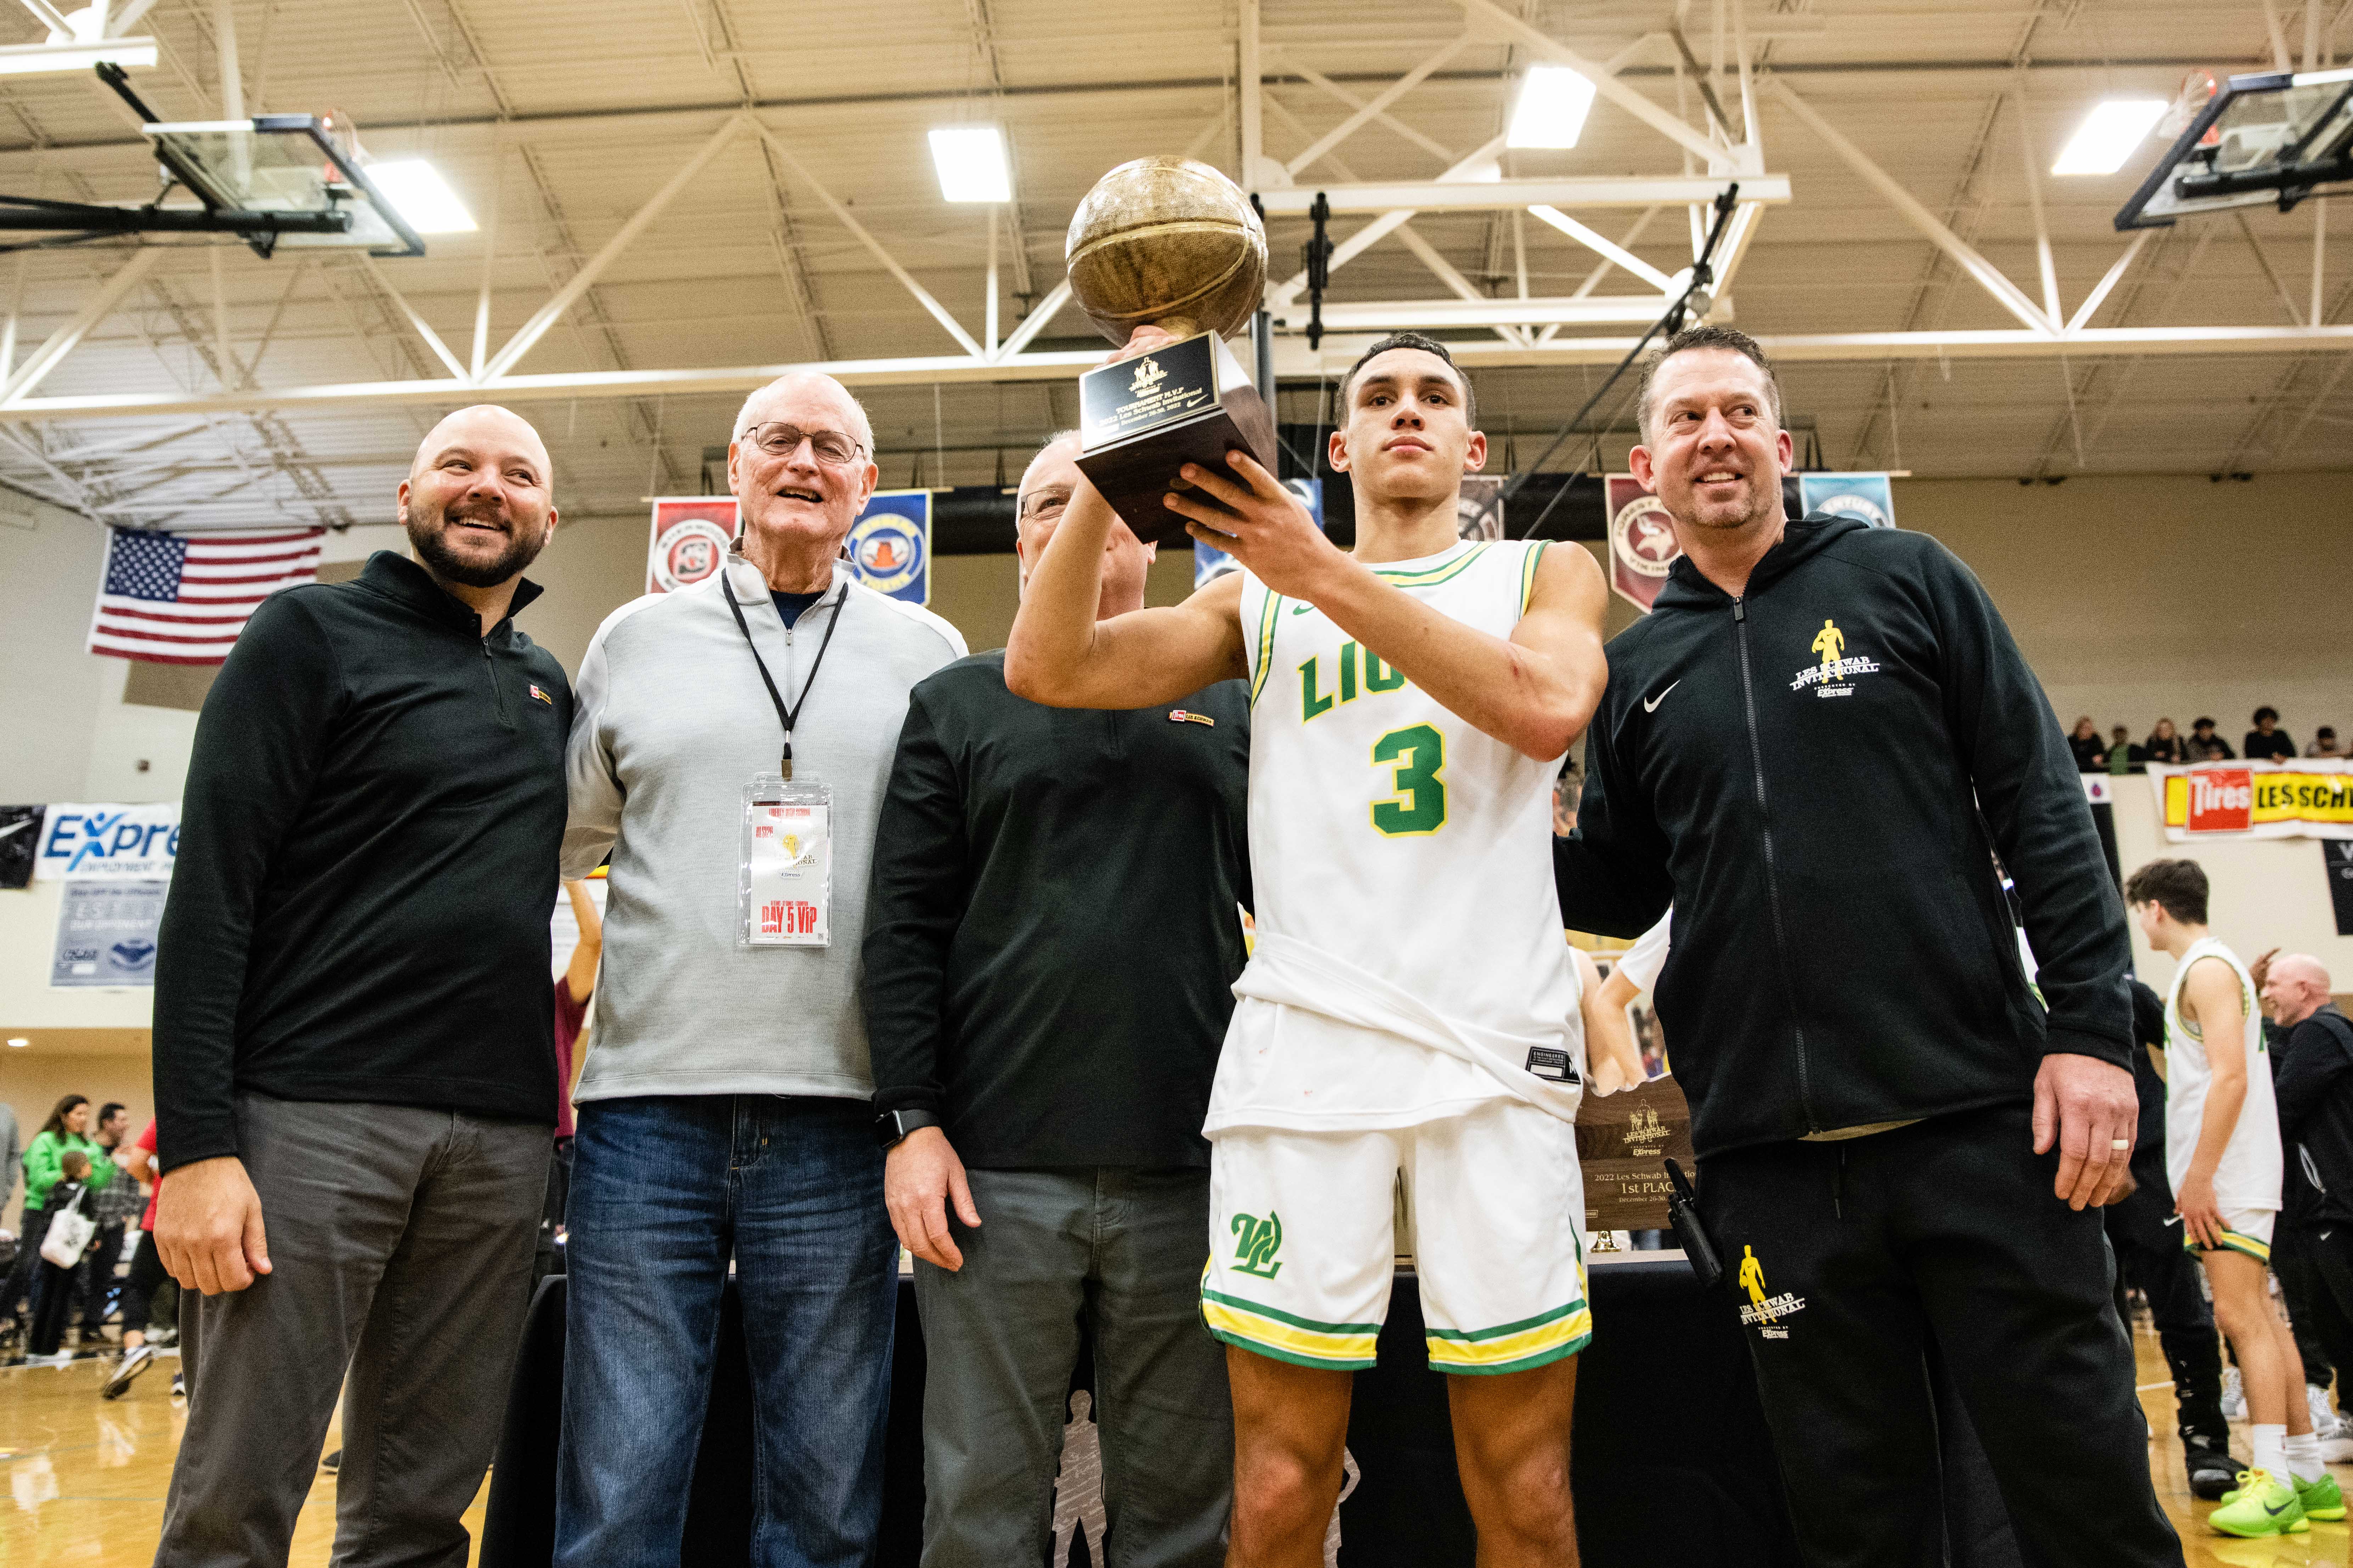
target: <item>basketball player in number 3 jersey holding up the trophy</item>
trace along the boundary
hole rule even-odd
[[[1607,590],[1579,548],[1457,536],[1487,437],[1440,343],[1384,339],[1339,390],[1353,555],[1247,456],[1188,465],[1198,489],[1167,505],[1242,571],[1096,623],[1113,512],[1082,489],[1031,574],[1005,679],[1061,708],[1252,686],[1259,943],[1205,1126],[1228,1563],[1322,1561],[1351,1375],[1374,1363],[1402,1251],[1400,1173],[1431,1363],[1464,1373],[1449,1399],[1478,1561],[1574,1563],[1581,1016],[1546,851],[1553,776],[1605,684]]]

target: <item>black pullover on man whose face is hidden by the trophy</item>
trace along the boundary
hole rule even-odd
[[[1014,696],[1002,651],[922,679],[866,898],[875,1110],[981,1171],[1207,1166],[1247,823],[1245,682],[1111,712]]]

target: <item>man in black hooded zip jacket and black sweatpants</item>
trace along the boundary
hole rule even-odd
[[[2125,910],[2049,701],[1932,538],[1784,517],[1748,336],[1671,339],[1638,416],[1685,557],[1609,644],[1560,907],[1675,907],[1659,1018],[1807,1556],[1939,1559],[1939,1356],[2031,1556],[2179,1563],[2097,1211],[2134,1145]]]

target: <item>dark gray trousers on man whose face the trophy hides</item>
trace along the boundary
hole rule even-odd
[[[1082,1490],[1064,1455],[1080,1319],[1094,1331],[1094,1432],[1108,1568],[1217,1568],[1233,1502],[1226,1352],[1200,1324],[1207,1171],[969,1171],[965,1267],[915,1265],[922,1568],[1040,1563]],[[951,1213],[953,1222],[953,1213]],[[1061,1561],[1056,1549],[1054,1561]]]

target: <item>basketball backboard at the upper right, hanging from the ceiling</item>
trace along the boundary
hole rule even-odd
[[[2221,87],[2193,73],[2193,85],[2195,96],[2212,96],[2115,214],[2118,228],[2231,207],[2287,212],[2308,195],[2353,193],[2353,71],[2264,71]],[[2186,89],[2174,125],[2191,106]]]

